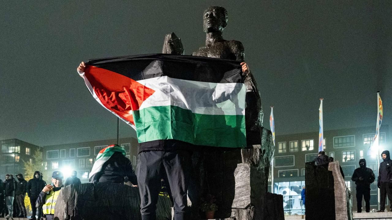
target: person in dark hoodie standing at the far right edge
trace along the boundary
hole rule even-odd
[[[380,163],[377,177],[377,187],[380,189],[380,210],[385,210],[385,198],[388,195],[390,208],[392,209],[392,160],[389,157],[389,151],[381,153],[383,162]]]

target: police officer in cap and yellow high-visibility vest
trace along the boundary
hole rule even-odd
[[[63,185],[64,176],[61,171],[54,171],[52,174],[52,184],[48,184],[38,195],[35,206],[42,207],[42,213],[46,220],[53,220],[54,209],[56,207],[57,197],[60,195]]]

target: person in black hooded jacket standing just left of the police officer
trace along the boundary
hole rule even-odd
[[[40,171],[35,171],[33,179],[30,179],[29,182],[27,182],[27,195],[30,197],[31,209],[33,210],[33,215],[31,215],[29,220],[36,219],[35,215],[37,208],[35,206],[35,202],[37,201],[37,198],[44,187],[45,182],[44,180],[41,180]],[[40,218],[40,212],[38,212],[38,218]]]

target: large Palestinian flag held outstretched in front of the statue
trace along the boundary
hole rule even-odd
[[[79,74],[98,103],[136,130],[140,143],[246,146],[238,61],[147,54],[89,60]]]

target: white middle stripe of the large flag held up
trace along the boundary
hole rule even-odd
[[[196,114],[245,115],[246,88],[243,83],[206,83],[168,76],[138,81],[155,90],[140,110],[152,106],[178,106]]]

